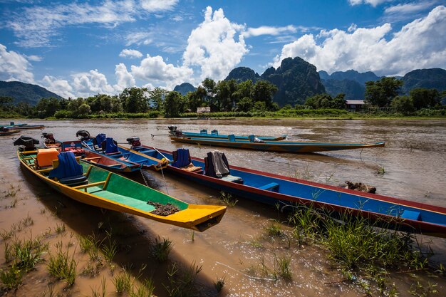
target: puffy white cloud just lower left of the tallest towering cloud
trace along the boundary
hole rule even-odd
[[[193,78],[193,71],[186,66],[174,66],[167,64],[161,56],[152,57],[147,55],[140,66],[131,66],[132,75],[140,80],[145,80],[147,83],[166,83],[168,88],[173,88],[175,85],[191,81]]]

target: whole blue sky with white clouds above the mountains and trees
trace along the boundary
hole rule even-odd
[[[446,68],[439,0],[0,0],[0,80],[63,97],[172,90],[300,56],[333,73]]]

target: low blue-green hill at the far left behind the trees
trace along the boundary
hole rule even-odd
[[[46,90],[46,88],[42,88],[40,85],[2,80],[0,80],[0,96],[13,98],[14,104],[23,101],[30,105],[36,105],[41,98],[53,97],[62,99],[61,96]]]

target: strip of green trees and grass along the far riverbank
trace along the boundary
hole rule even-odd
[[[360,112],[347,110],[345,95],[308,93],[304,103],[282,107],[274,101],[276,85],[267,80],[203,80],[195,91],[182,95],[162,88],[126,88],[119,95],[88,98],[42,98],[33,106],[0,97],[0,118],[132,119],[196,118],[197,108],[209,107],[209,118],[444,118],[446,91],[415,88],[403,95],[403,81],[381,78],[365,83],[365,103]]]

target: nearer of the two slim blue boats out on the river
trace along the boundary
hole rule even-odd
[[[384,142],[370,144],[363,143],[328,143],[328,142],[292,142],[292,141],[265,141],[264,143],[250,142],[249,140],[210,140],[202,137],[170,137],[176,142],[185,142],[194,145],[209,145],[216,147],[232,147],[247,150],[264,150],[268,152],[327,152],[333,150],[354,150],[370,147],[383,147]]]

